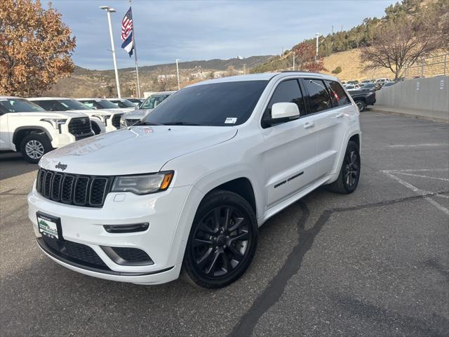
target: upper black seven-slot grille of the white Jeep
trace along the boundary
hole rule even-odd
[[[102,207],[112,177],[84,176],[39,169],[36,190],[46,199],[86,207]]]

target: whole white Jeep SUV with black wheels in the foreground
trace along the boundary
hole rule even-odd
[[[303,72],[203,81],[138,126],[44,156],[28,195],[55,262],[137,284],[218,288],[248,268],[258,227],[321,185],[360,175],[358,109],[335,77]]]

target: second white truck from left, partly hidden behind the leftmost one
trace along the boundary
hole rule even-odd
[[[28,100],[36,103],[46,111],[77,111],[87,114],[91,119],[92,130],[95,135],[116,130],[112,123],[107,123],[107,120],[111,118],[109,112],[89,109],[86,105],[73,98],[36,97],[28,98]]]

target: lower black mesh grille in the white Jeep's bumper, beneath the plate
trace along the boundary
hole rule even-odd
[[[102,261],[100,256],[95,253],[91,247],[77,242],[57,240],[46,235],[42,236],[43,242],[46,243],[51,251],[56,255],[72,260],[80,265],[87,267],[95,267],[102,270],[109,270],[109,267]]]

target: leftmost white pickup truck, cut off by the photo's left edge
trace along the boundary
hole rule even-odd
[[[56,147],[93,136],[81,112],[47,112],[24,98],[0,96],[0,150],[17,151],[30,163]]]

